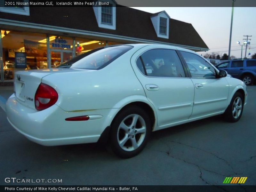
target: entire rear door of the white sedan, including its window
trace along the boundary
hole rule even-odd
[[[148,100],[155,107],[157,130],[159,126],[189,118],[195,88],[191,79],[185,77],[175,50],[153,47],[156,45],[149,45],[136,52],[131,64]]]

